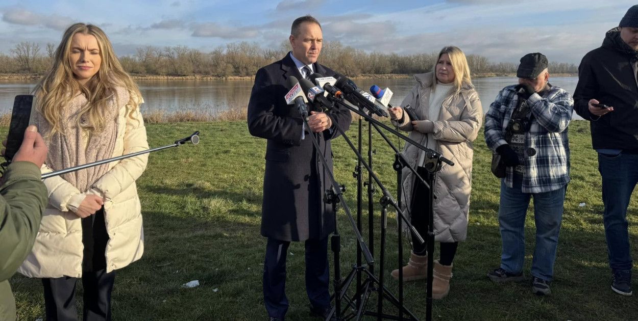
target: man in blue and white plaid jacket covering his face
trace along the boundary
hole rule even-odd
[[[574,100],[547,82],[547,57],[542,53],[521,58],[517,77],[519,85],[503,88],[486,115],[487,146],[500,154],[507,166],[498,210],[501,266],[487,276],[499,283],[525,280],[524,225],[533,197],[537,231],[532,292],[547,295],[569,182],[567,126]]]

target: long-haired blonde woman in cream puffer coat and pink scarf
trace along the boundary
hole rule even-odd
[[[95,25],[66,29],[35,94],[34,120],[49,150],[42,173],[149,148],[142,96]],[[19,272],[42,278],[47,320],[77,320],[77,278],[84,285],[84,320],[110,320],[115,270],[144,252],[135,180],[147,157],[44,180],[49,204]]]

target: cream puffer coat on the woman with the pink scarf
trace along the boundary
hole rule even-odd
[[[149,148],[139,108],[133,113],[133,118],[128,115],[129,111],[128,105],[119,109],[113,157]],[[109,237],[105,253],[107,273],[140,259],[144,252],[144,231],[135,180],[144,172],[147,160],[148,154],[144,154],[111,162],[107,173],[85,192],[76,189],[61,176],[44,180],[49,204],[43,213],[33,250],[18,272],[31,278],[82,276],[82,224],[71,208],[76,209],[87,194],[96,194],[104,199],[104,219]],[[45,164],[41,171],[49,173],[52,170]]]

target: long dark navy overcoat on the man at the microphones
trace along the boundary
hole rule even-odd
[[[334,76],[332,69],[315,62],[315,73]],[[294,105],[286,104],[286,79],[301,79],[290,53],[281,61],[257,71],[255,85],[248,103],[248,129],[251,135],[268,139],[266,168],[263,176],[262,235],[281,241],[322,239],[334,231],[334,213],[323,203],[323,191],[330,188],[330,179],[323,168],[310,137],[308,127]],[[308,106],[309,110],[315,110]],[[336,122],[346,131],[352,122],[350,111],[332,111]],[[338,131],[325,130],[314,134],[320,152],[332,173],[330,139]]]

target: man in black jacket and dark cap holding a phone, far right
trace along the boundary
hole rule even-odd
[[[638,5],[582,58],[574,110],[590,120],[602,176],[611,288],[632,295],[627,207],[638,183]],[[603,104],[604,106],[596,106]]]

